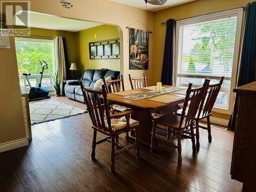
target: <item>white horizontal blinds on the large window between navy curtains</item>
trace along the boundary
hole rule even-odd
[[[178,74],[231,77],[237,16],[179,27]]]

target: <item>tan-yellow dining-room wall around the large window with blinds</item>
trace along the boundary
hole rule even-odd
[[[254,0],[253,0],[254,1]],[[183,4],[180,6],[164,9],[154,13],[154,40],[153,40],[153,71],[152,82],[156,83],[161,79],[164,41],[166,25],[161,25],[169,18],[183,19],[214,12],[220,12],[228,9],[240,8],[246,6],[252,0],[197,0],[195,2]],[[213,117],[228,120],[230,115],[215,113]]]

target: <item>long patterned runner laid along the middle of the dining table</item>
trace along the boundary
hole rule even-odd
[[[123,98],[134,100],[134,101],[139,101],[139,100],[142,100],[142,99],[152,98],[152,97],[156,97],[156,96],[159,96],[159,95],[164,95],[164,94],[167,94],[167,93],[173,93],[173,92],[176,92],[176,91],[181,91],[181,90],[184,90],[184,89],[186,89],[186,88],[170,87],[170,88],[163,89],[159,93],[154,93],[153,91],[148,91],[148,92],[141,92],[141,93],[136,93],[136,94],[132,94],[132,95],[126,95]]]

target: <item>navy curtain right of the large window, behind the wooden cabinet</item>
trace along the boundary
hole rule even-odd
[[[244,39],[240,59],[237,87],[256,80],[256,2],[247,5]],[[234,130],[238,111],[236,97],[229,127]]]

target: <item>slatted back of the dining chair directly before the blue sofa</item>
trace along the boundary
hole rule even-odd
[[[102,80],[103,80],[103,83],[106,87],[106,91],[108,93],[116,93],[116,92],[120,92],[120,91],[125,91],[122,75],[121,75],[121,79],[106,81],[105,78],[102,77]]]

